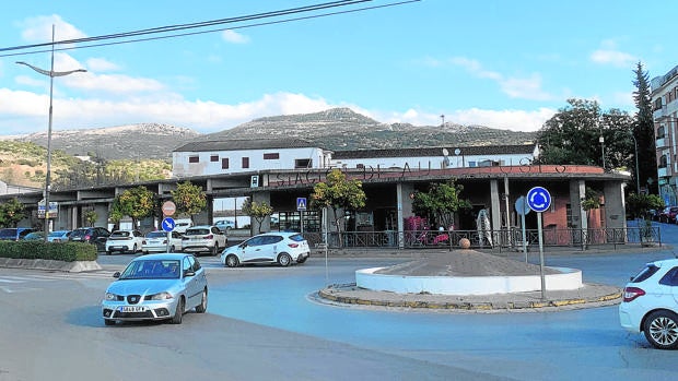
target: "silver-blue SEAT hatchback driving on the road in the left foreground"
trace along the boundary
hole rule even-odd
[[[106,289],[102,314],[106,325],[117,321],[170,320],[180,324],[184,312],[207,310],[207,275],[200,262],[184,253],[138,257]]]

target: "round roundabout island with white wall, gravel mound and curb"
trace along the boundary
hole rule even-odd
[[[530,311],[616,305],[621,289],[585,284],[576,269],[545,267],[469,249],[355,272],[355,284],[318,291],[322,302],[396,309]],[[543,296],[543,297],[542,297]]]

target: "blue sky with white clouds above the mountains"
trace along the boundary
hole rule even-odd
[[[0,135],[47,131],[49,76],[15,62],[49,71],[50,47],[12,48],[50,43],[52,25],[62,41],[328,2],[13,2],[0,12]],[[86,72],[54,78],[52,130],[155,122],[210,133],[349,107],[387,123],[537,131],[569,98],[632,115],[638,62],[651,79],[678,64],[663,16],[677,13],[674,0],[373,0],[57,44],[55,72]]]

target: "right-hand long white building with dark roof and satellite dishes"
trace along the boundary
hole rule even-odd
[[[538,156],[536,144],[337,151],[340,168],[461,168],[527,165]]]

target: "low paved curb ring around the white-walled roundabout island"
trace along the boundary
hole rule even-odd
[[[322,302],[344,306],[370,306],[397,309],[433,309],[452,311],[522,311],[522,310],[564,310],[617,305],[622,290],[618,287],[585,284],[584,287],[568,291],[548,291],[541,299],[540,291],[493,294],[493,295],[431,295],[395,294],[359,288],[355,284],[332,285],[320,289],[317,297]]]

